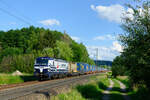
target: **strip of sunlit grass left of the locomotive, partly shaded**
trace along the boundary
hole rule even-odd
[[[23,83],[34,80],[36,80],[36,78],[31,74],[23,74],[16,76],[13,76],[11,74],[0,74],[0,85]]]

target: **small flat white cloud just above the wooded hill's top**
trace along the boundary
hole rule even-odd
[[[52,25],[60,25],[60,22],[56,19],[47,19],[47,20],[42,20],[39,23],[46,25],[46,26],[52,26]]]

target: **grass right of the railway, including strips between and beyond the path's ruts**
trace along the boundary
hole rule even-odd
[[[123,91],[121,91],[120,84],[117,80],[125,84],[126,94],[131,100],[143,100],[143,98],[144,100],[150,100],[146,89],[137,87],[132,89],[129,79],[126,76],[119,76],[116,79],[112,78],[114,86],[110,91],[109,100],[124,100],[122,95]],[[61,93],[52,97],[52,100],[102,100],[102,93],[109,84],[106,75],[92,77],[89,83],[77,85],[67,93]]]

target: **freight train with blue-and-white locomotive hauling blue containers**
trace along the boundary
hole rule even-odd
[[[86,63],[67,62],[50,57],[38,57],[34,64],[34,75],[39,80],[97,73],[104,68]]]

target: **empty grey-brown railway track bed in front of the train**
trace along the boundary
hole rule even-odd
[[[76,76],[66,79],[57,79],[57,80],[50,80],[44,82],[35,82],[33,84],[22,85],[19,87],[7,88],[0,90],[0,100],[12,100],[15,98],[19,98],[22,96],[26,96],[32,93],[38,93],[40,91],[48,91],[51,88],[63,86],[65,84],[71,84],[77,82],[79,80],[87,79],[90,76],[99,75],[97,74],[89,74],[83,76]],[[32,82],[31,82],[32,83]]]

